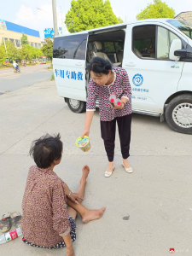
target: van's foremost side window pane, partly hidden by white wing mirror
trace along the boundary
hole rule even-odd
[[[158,26],[157,59],[169,60],[169,50],[173,39],[179,39],[175,34]]]

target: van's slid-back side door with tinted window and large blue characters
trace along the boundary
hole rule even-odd
[[[86,102],[85,60],[88,33],[56,37],[53,69],[59,96]]]

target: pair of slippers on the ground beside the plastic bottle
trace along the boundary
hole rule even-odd
[[[0,219],[0,231],[2,233],[8,232],[13,225],[15,229],[21,227],[21,215],[20,212],[7,212],[3,214]]]

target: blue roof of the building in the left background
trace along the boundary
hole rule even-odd
[[[19,33],[23,32],[26,35],[40,38],[39,32],[37,30],[28,28],[26,26],[20,26],[9,21],[5,21],[5,22],[6,22],[7,30],[9,31],[19,32]]]

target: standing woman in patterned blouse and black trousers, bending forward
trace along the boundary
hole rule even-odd
[[[90,61],[87,67],[91,79],[88,86],[88,100],[86,108],[86,121],[84,135],[89,136],[90,125],[94,111],[96,110],[96,96],[99,98],[99,110],[101,119],[101,132],[105,150],[108,155],[108,169],[105,177],[110,177],[114,170],[114,141],[116,122],[119,128],[119,139],[123,157],[122,166],[126,172],[131,173],[132,168],[128,163],[131,141],[131,85],[128,75],[122,67],[112,67],[112,64],[99,57]],[[121,99],[121,105],[114,107],[109,102],[109,96],[114,93]]]

